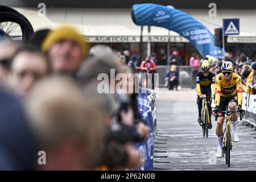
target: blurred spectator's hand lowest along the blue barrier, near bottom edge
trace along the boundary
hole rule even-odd
[[[126,146],[126,152],[128,155],[127,159],[127,168],[134,169],[139,168],[141,166],[141,154],[138,150],[135,150],[135,148],[131,145]]]

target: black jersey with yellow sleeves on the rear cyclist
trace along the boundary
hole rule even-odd
[[[198,96],[201,96],[201,88],[203,89],[210,89],[210,86],[213,84],[213,89],[215,85],[214,80],[215,75],[209,72],[208,76],[205,77],[203,72],[198,72],[196,75],[196,92]]]

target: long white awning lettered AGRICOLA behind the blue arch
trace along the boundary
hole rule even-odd
[[[130,15],[130,9],[53,9],[46,7],[46,16],[38,14],[39,9],[15,8],[30,20],[34,30],[41,28],[54,28],[60,23],[71,23],[81,32],[82,35],[89,36],[89,41],[98,37],[112,40],[135,40],[137,42],[141,35],[141,26],[133,23]],[[217,10],[216,17],[208,15],[208,9],[202,10],[183,10],[190,14],[201,23],[203,23],[213,34],[214,28],[222,24],[222,18],[240,18],[239,37],[256,37],[256,11],[255,10]],[[171,36],[177,38],[180,36],[171,31]],[[143,36],[148,35],[147,26],[143,27]],[[151,27],[150,36],[162,36],[166,42],[168,39],[168,30],[161,27]],[[230,36],[231,37],[231,36]],[[237,37],[237,36],[236,36]],[[146,38],[144,38],[145,40]],[[187,39],[180,38],[177,42],[187,42]],[[232,39],[236,42],[238,39]],[[175,41],[175,40],[174,40]],[[117,41],[118,42],[118,41]],[[161,42],[161,41],[160,41]],[[172,40],[171,40],[172,42]],[[240,39],[241,42],[241,39]]]

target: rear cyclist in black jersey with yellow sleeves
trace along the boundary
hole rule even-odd
[[[198,106],[198,122],[202,125],[201,113],[203,107],[203,98],[207,98],[207,107],[209,115],[212,113],[212,89],[215,85],[214,74],[209,72],[210,65],[207,60],[203,61],[201,65],[202,71],[196,75],[196,92],[197,92],[197,106]],[[209,129],[212,129],[212,122],[210,119]]]

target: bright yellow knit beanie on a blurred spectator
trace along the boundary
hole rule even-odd
[[[85,42],[84,38],[73,27],[66,26],[66,25],[60,26],[56,28],[56,30],[52,30],[51,32],[48,33],[48,35],[43,41],[42,51],[44,53],[49,51],[49,49],[53,46],[53,44],[63,39],[71,39],[77,44],[79,44],[82,50],[83,58],[86,55],[88,55],[88,51],[89,51],[88,43]]]

